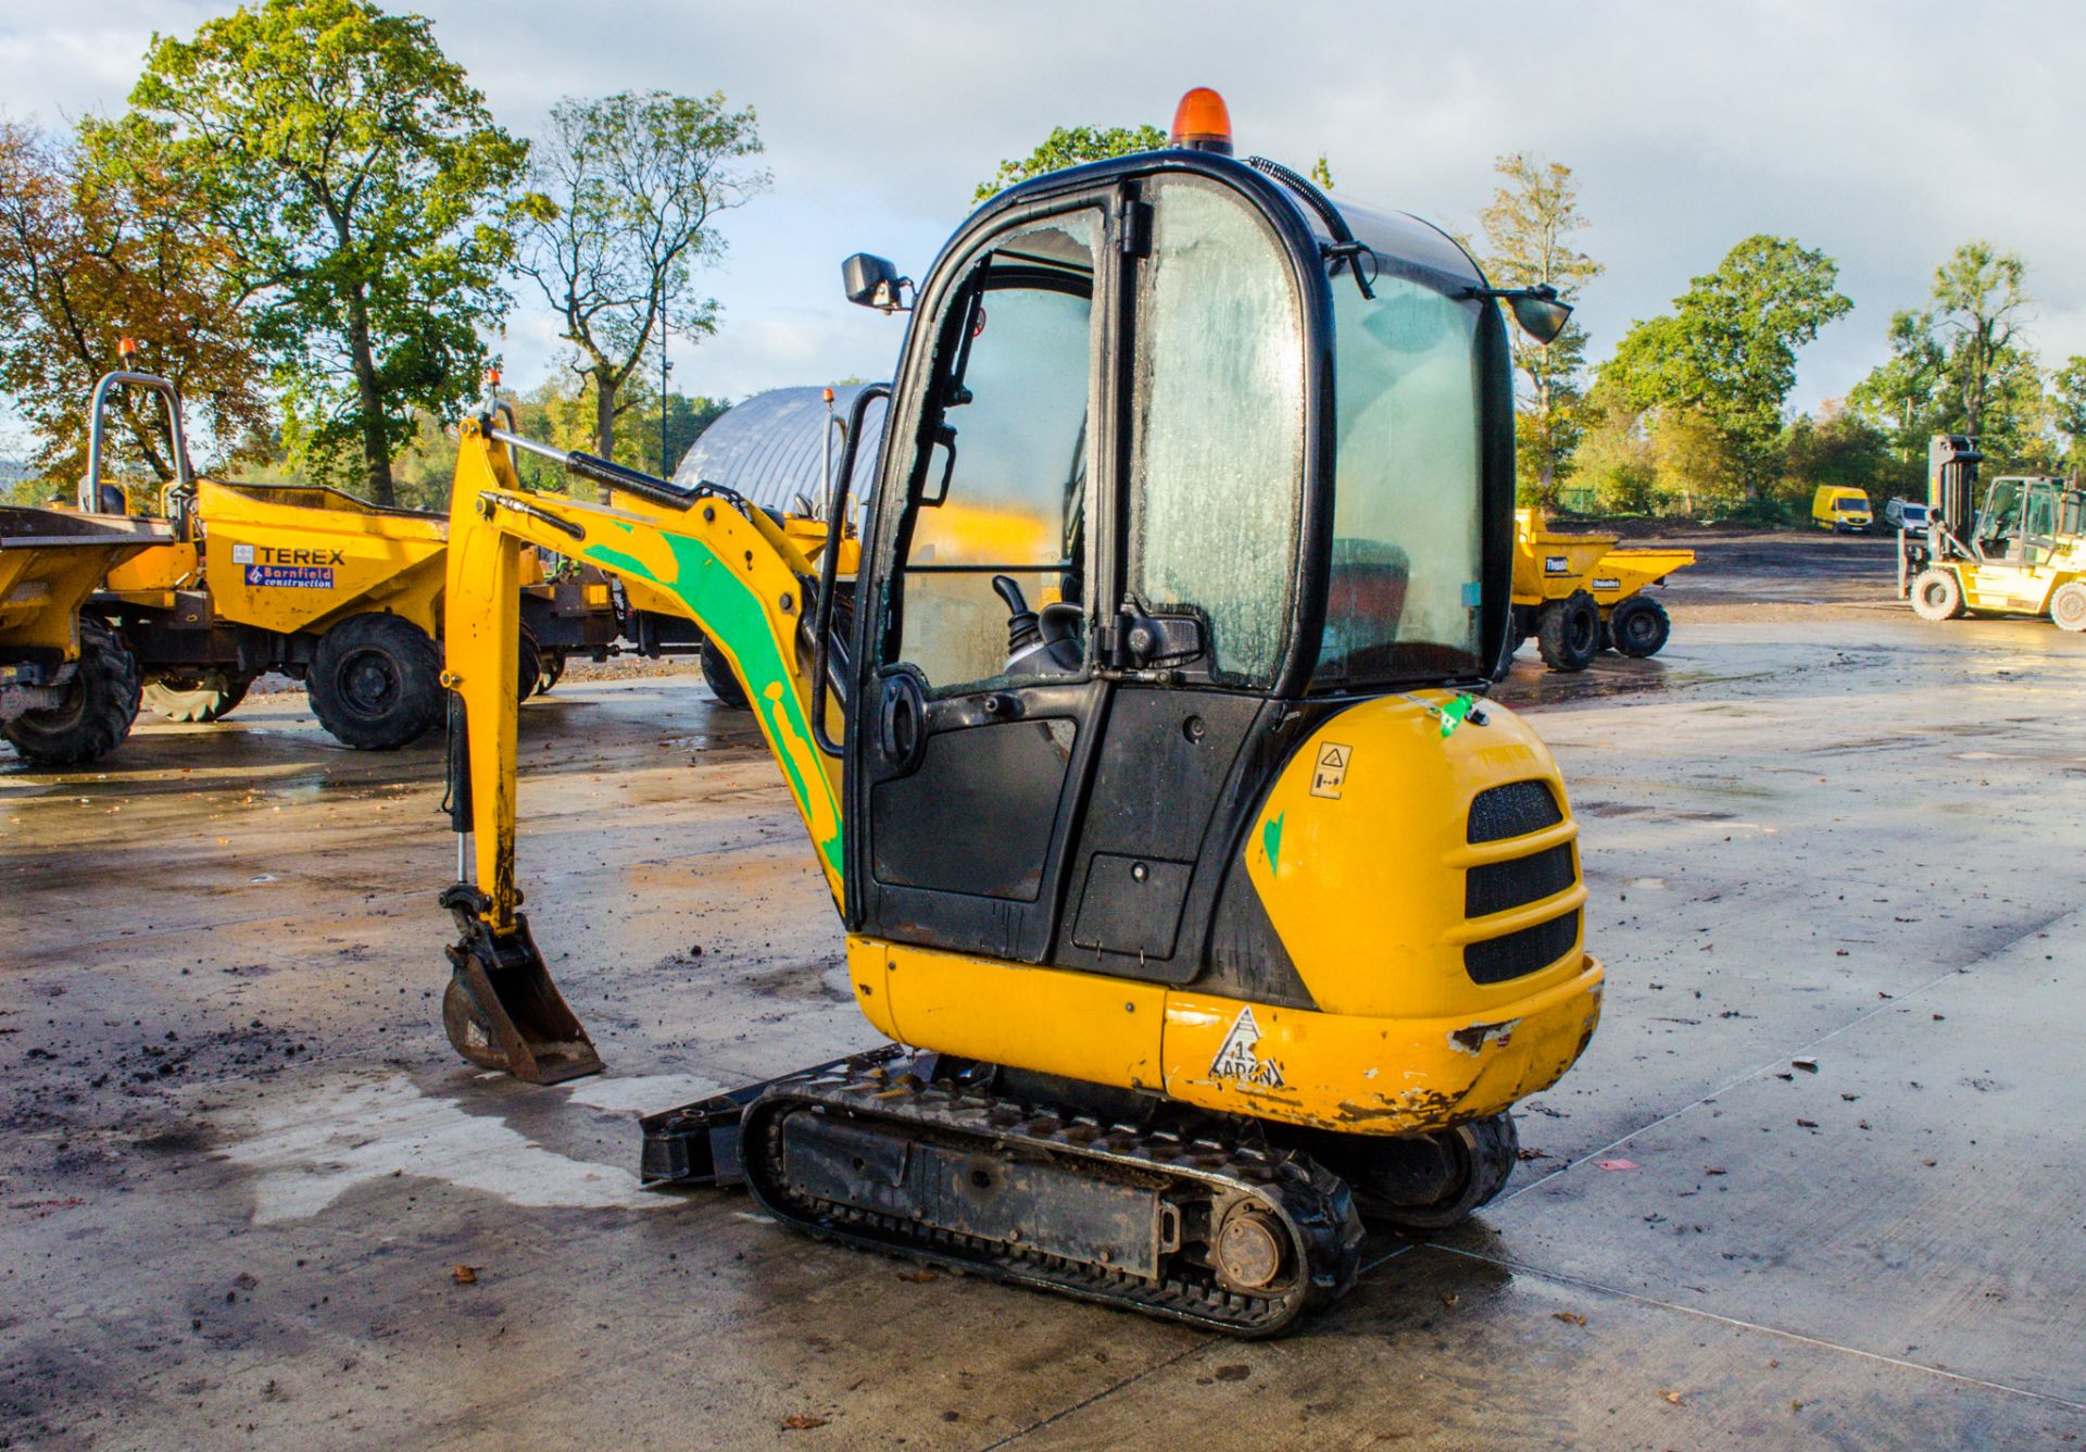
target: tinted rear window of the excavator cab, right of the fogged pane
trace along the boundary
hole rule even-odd
[[[1479,302],[1379,259],[1333,277],[1333,576],[1314,684],[1483,670]],[[1460,288],[1458,288],[1460,292]]]

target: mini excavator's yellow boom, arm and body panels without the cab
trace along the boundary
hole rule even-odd
[[[630,507],[622,507],[628,503]],[[503,446],[463,426],[451,513],[444,682],[465,707],[480,918],[515,933],[513,572],[524,542],[624,580],[632,603],[695,620],[749,688],[834,901],[839,766],[807,728],[799,576],[811,559],[766,515],[522,490]],[[807,540],[809,542],[809,540]],[[822,542],[822,540],[820,540]],[[849,563],[849,561],[843,561]],[[1037,1072],[1164,1091],[1212,1110],[1358,1135],[1446,1129],[1554,1083],[1600,1018],[1583,947],[1577,826],[1556,764],[1508,709],[1425,691],[1325,718],[1295,743],[1245,834],[1245,872],[1314,1008],[880,939],[847,945],[855,1001],[882,1033]],[[832,713],[828,732],[839,736]],[[1329,751],[1335,755],[1329,757]],[[1329,776],[1325,764],[1339,772]],[[1554,822],[1469,841],[1479,793],[1539,782]],[[1562,849],[1548,897],[1464,918],[1466,876]],[[1464,949],[1562,924],[1554,958],[1479,983]]]

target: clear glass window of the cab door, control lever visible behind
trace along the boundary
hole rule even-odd
[[[937,321],[926,446],[893,607],[930,695],[1085,666],[1095,213],[993,244]],[[1053,649],[1012,659],[1005,576]],[[887,636],[889,638],[889,636]]]

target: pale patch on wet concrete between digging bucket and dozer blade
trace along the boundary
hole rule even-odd
[[[642,1081],[605,1081],[628,1083]],[[661,1108],[684,1102],[665,1099]],[[227,1114],[217,1129],[225,1158],[252,1177],[254,1225],[307,1220],[359,1185],[392,1175],[444,1181],[530,1208],[672,1204],[638,1189],[638,1177],[626,1168],[547,1150],[496,1118],[421,1093],[398,1072],[271,1089],[265,1104]]]

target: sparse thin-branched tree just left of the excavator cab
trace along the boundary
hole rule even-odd
[[[574,346],[605,459],[628,407],[622,390],[659,330],[715,332],[718,302],[697,292],[695,273],[724,252],[718,217],[766,190],[766,171],[738,165],[759,150],[753,108],[732,111],[722,94],[622,92],[551,108],[517,207],[519,269]]]

